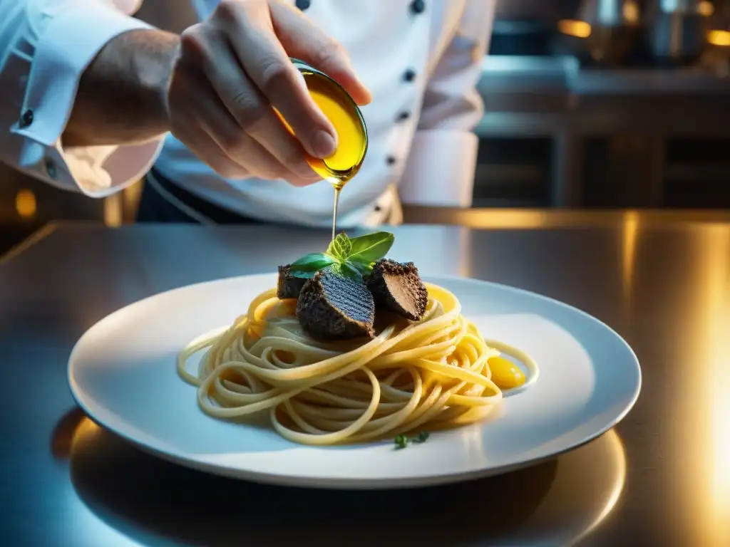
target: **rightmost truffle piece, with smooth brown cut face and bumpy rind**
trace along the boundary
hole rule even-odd
[[[378,260],[367,280],[367,287],[378,308],[411,321],[418,321],[426,313],[429,291],[412,262],[401,264],[387,258]]]

